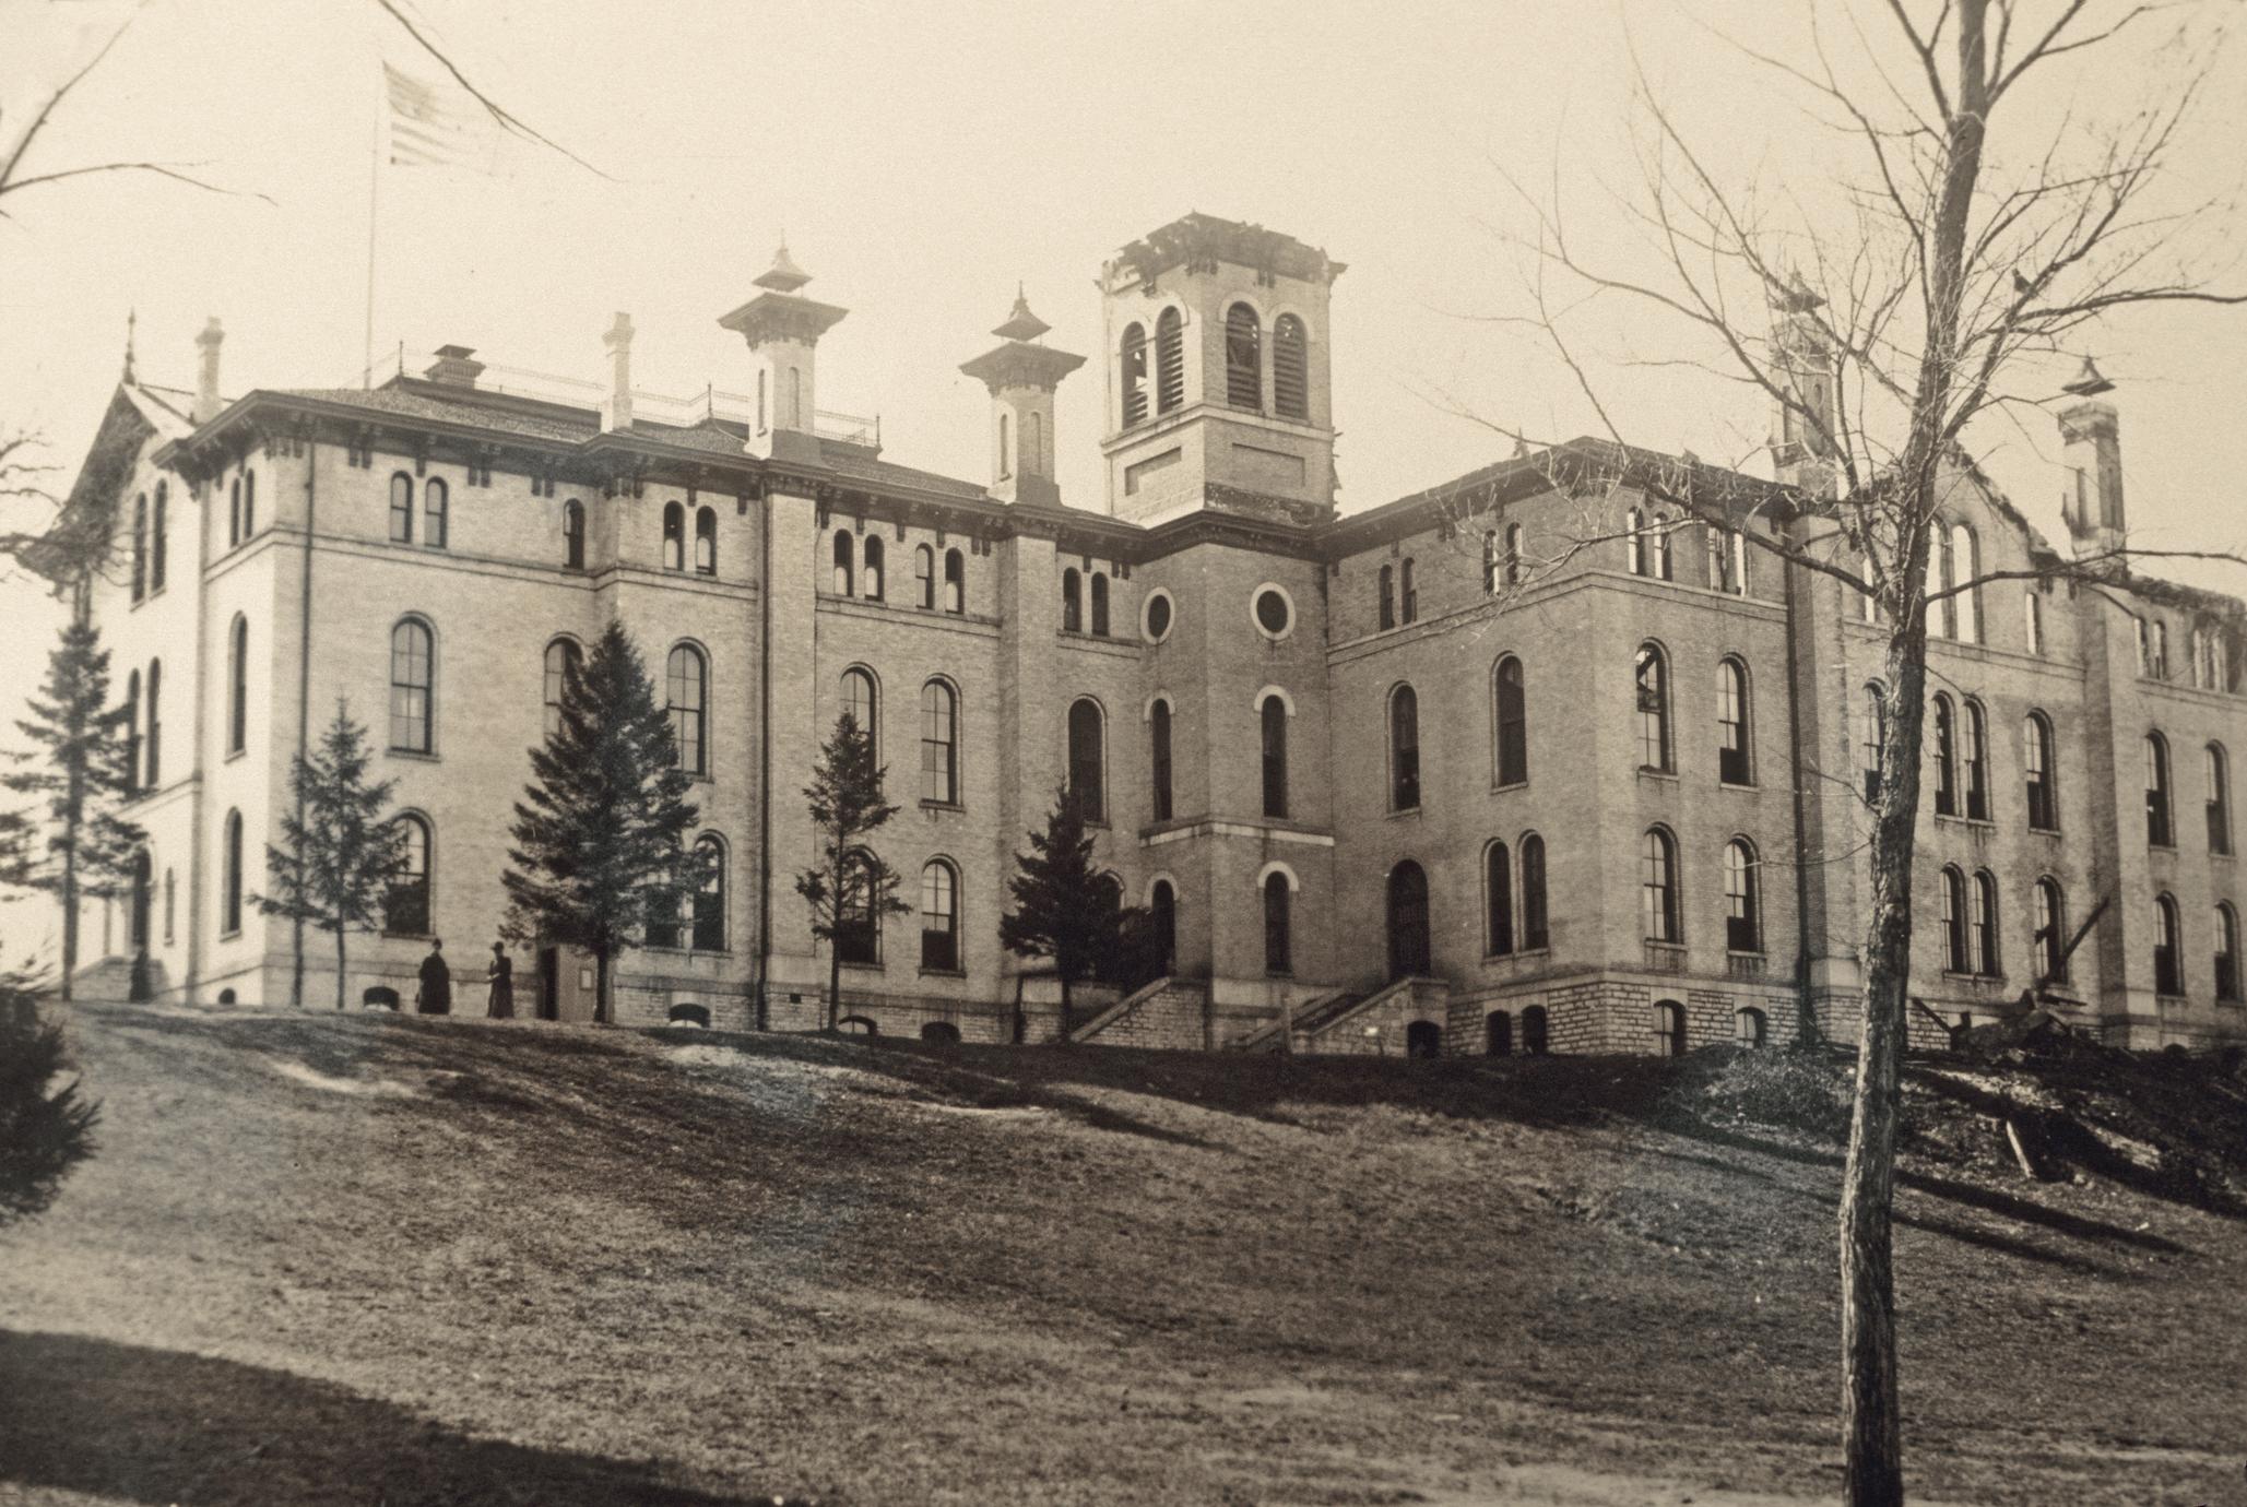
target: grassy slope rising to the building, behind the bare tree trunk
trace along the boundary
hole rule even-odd
[[[1708,1062],[124,1006],[76,1042],[103,1152],[0,1235],[0,1500],[1836,1480],[1838,1159],[1732,1114]],[[2150,1175],[2025,1184],[1971,1105],[1914,1105],[1917,1489],[2247,1500],[2247,1224]]]

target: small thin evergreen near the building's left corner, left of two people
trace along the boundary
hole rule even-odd
[[[337,701],[335,721],[310,757],[290,761],[290,793],[297,809],[281,820],[281,847],[265,847],[272,894],[252,903],[267,916],[288,916],[335,932],[335,1008],[344,1008],[344,939],[373,928],[391,880],[407,862],[407,831],[382,813],[395,779],[369,784],[373,755],[366,728]],[[303,975],[294,1004],[303,1004]]]

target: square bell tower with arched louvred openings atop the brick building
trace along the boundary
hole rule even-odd
[[[1108,512],[1335,512],[1328,294],[1344,265],[1258,225],[1189,213],[1101,270]]]

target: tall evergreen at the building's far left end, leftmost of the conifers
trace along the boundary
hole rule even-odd
[[[18,721],[34,743],[27,768],[0,779],[45,797],[45,853],[34,851],[13,883],[54,894],[63,905],[63,999],[79,968],[79,901],[110,896],[133,878],[146,833],[119,815],[133,795],[133,710],[110,705],[110,651],[83,611],[47,656],[47,678]]]

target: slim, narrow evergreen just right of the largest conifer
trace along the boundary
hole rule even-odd
[[[795,876],[795,894],[811,907],[811,934],[827,943],[829,1031],[843,1013],[843,955],[872,959],[881,919],[912,910],[897,898],[897,871],[865,847],[897,815],[883,795],[885,773],[874,764],[874,734],[845,712],[804,786],[820,829],[820,867]]]

